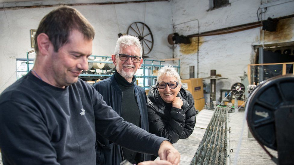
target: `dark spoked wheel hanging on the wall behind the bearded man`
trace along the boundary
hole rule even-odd
[[[150,53],[153,48],[153,35],[150,28],[142,22],[132,23],[128,30],[127,34],[137,36],[142,44],[143,56]]]

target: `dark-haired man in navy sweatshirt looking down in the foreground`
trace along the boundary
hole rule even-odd
[[[124,121],[91,85],[95,32],[74,8],[47,14],[35,35],[33,69],[0,95],[0,148],[9,164],[96,164],[96,135],[137,152],[179,163],[167,139]]]

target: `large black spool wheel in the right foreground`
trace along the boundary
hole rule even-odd
[[[278,127],[276,121],[293,121],[293,93],[294,75],[287,75],[267,79],[259,84],[251,94],[246,104],[247,122],[253,136],[261,145],[277,150],[276,133],[280,130],[276,130]],[[279,119],[277,115],[280,117],[280,114],[287,117]]]

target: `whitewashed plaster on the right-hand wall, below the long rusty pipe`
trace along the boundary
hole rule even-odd
[[[256,35],[251,35],[251,34]],[[256,41],[258,29],[250,29],[243,32],[225,35],[203,37],[203,43],[199,47],[199,78],[210,76],[210,70],[216,69],[217,74],[223,78],[217,80],[216,99],[220,98],[220,89],[230,89],[232,84],[241,82],[239,76],[247,72],[247,65],[254,56],[252,42]],[[197,53],[182,54],[180,46],[175,48],[176,57],[181,58],[181,78],[189,78],[189,66],[195,66],[195,77],[197,76]],[[210,84],[210,80],[205,80]],[[205,94],[208,101],[209,94]]]

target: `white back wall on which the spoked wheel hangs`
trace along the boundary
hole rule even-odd
[[[27,2],[29,3],[29,2]],[[48,3],[48,2],[46,2]],[[169,2],[147,2],[115,5],[120,31],[118,30],[114,5],[73,6],[95,28],[94,55],[111,55],[118,33],[126,33],[128,26],[136,21],[150,27],[154,47],[150,59],[171,58],[173,50],[167,43],[167,35],[173,31],[171,5]],[[36,29],[40,20],[53,8],[30,8],[0,11],[0,92],[16,81],[16,58],[26,58],[30,46],[30,29]],[[32,58],[32,57],[30,57]]]

